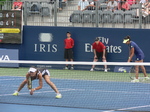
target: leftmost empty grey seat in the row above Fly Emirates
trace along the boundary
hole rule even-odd
[[[74,11],[70,16],[70,22],[72,23],[81,23],[82,22],[82,11]]]

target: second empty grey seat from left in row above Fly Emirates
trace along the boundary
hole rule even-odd
[[[92,14],[90,13],[91,11],[85,10],[82,13],[82,22],[83,23],[90,23],[92,21]]]

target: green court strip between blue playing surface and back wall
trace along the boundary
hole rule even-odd
[[[25,76],[28,68],[0,68],[0,76]],[[78,80],[97,80],[97,81],[116,81],[130,82],[129,73],[103,72],[103,71],[87,71],[87,70],[61,70],[49,69],[51,78],[57,79],[78,79]],[[143,77],[140,73],[139,77]],[[147,82],[146,82],[147,83]]]

